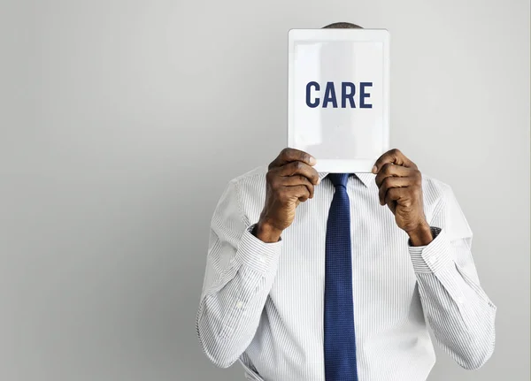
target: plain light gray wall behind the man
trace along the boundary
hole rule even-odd
[[[391,144],[449,183],[496,353],[529,379],[529,2],[7,0],[0,379],[242,380],[198,345],[210,218],[286,142],[290,27],[391,34]]]

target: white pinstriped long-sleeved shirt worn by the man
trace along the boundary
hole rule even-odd
[[[314,196],[296,208],[281,240],[251,232],[266,199],[266,167],[227,183],[214,210],[196,332],[220,368],[235,362],[249,380],[324,381],[327,216],[335,188],[319,173]],[[495,346],[496,306],[482,290],[472,231],[451,187],[423,176],[434,240],[412,247],[372,173],[350,176],[352,291],[362,381],[424,381],[434,340],[462,367]]]

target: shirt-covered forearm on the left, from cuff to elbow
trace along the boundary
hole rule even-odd
[[[204,352],[222,368],[249,346],[277,271],[281,242],[266,244],[251,230],[243,234],[227,269],[205,290],[197,311],[197,335]]]

